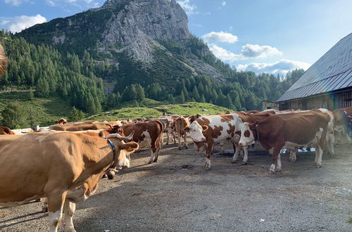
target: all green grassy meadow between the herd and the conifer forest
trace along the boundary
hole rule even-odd
[[[34,124],[40,124],[41,126],[47,126],[54,124],[54,122],[61,117],[68,118],[70,114],[71,105],[63,101],[61,98],[56,96],[50,96],[47,98],[33,98],[29,100],[29,92],[11,92],[11,93],[0,93],[0,111],[4,109],[5,105],[9,101],[15,101],[25,111],[25,117],[27,117],[25,127],[30,127],[30,113]],[[212,105],[209,103],[184,103],[184,104],[170,104],[163,105],[158,101],[151,99],[145,99],[142,105],[146,107],[128,107],[130,103],[123,103],[122,107],[117,110],[109,110],[99,115],[92,115],[87,117],[85,120],[125,120],[133,119],[136,117],[159,117],[163,115],[163,112],[177,115],[194,115],[196,113],[220,113],[230,111],[226,108],[222,108],[218,105]],[[208,110],[207,112],[203,109]]]

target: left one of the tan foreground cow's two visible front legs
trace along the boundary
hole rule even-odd
[[[57,232],[58,224],[60,224],[60,221],[63,217],[63,203],[65,202],[66,192],[49,193],[47,197],[50,232]]]

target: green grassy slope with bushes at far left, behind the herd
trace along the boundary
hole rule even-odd
[[[9,101],[15,101],[20,104],[25,112],[26,124],[25,127],[30,127],[30,113],[34,124],[46,126],[54,124],[61,117],[67,118],[70,114],[71,106],[61,98],[50,96],[47,98],[33,98],[29,100],[29,92],[10,92],[0,93],[0,111]]]

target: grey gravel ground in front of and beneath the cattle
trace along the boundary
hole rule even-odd
[[[193,145],[164,146],[158,162],[146,165],[149,155],[134,153],[130,169],[101,179],[99,191],[77,205],[77,231],[352,231],[351,144],[323,156],[320,169],[314,153],[300,153],[296,163],[282,155],[275,174],[265,153],[249,153],[248,165],[215,153],[210,170]],[[40,202],[0,209],[0,231],[48,231],[41,209]]]

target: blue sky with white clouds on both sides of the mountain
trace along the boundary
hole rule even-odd
[[[0,0],[0,28],[19,31],[103,0]],[[239,70],[308,68],[352,32],[351,0],[177,0],[189,30]]]

